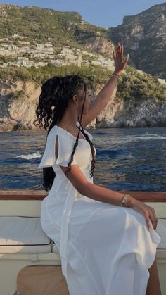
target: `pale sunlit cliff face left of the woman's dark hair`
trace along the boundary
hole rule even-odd
[[[41,87],[33,82],[0,82],[0,131],[35,129],[32,121]]]

